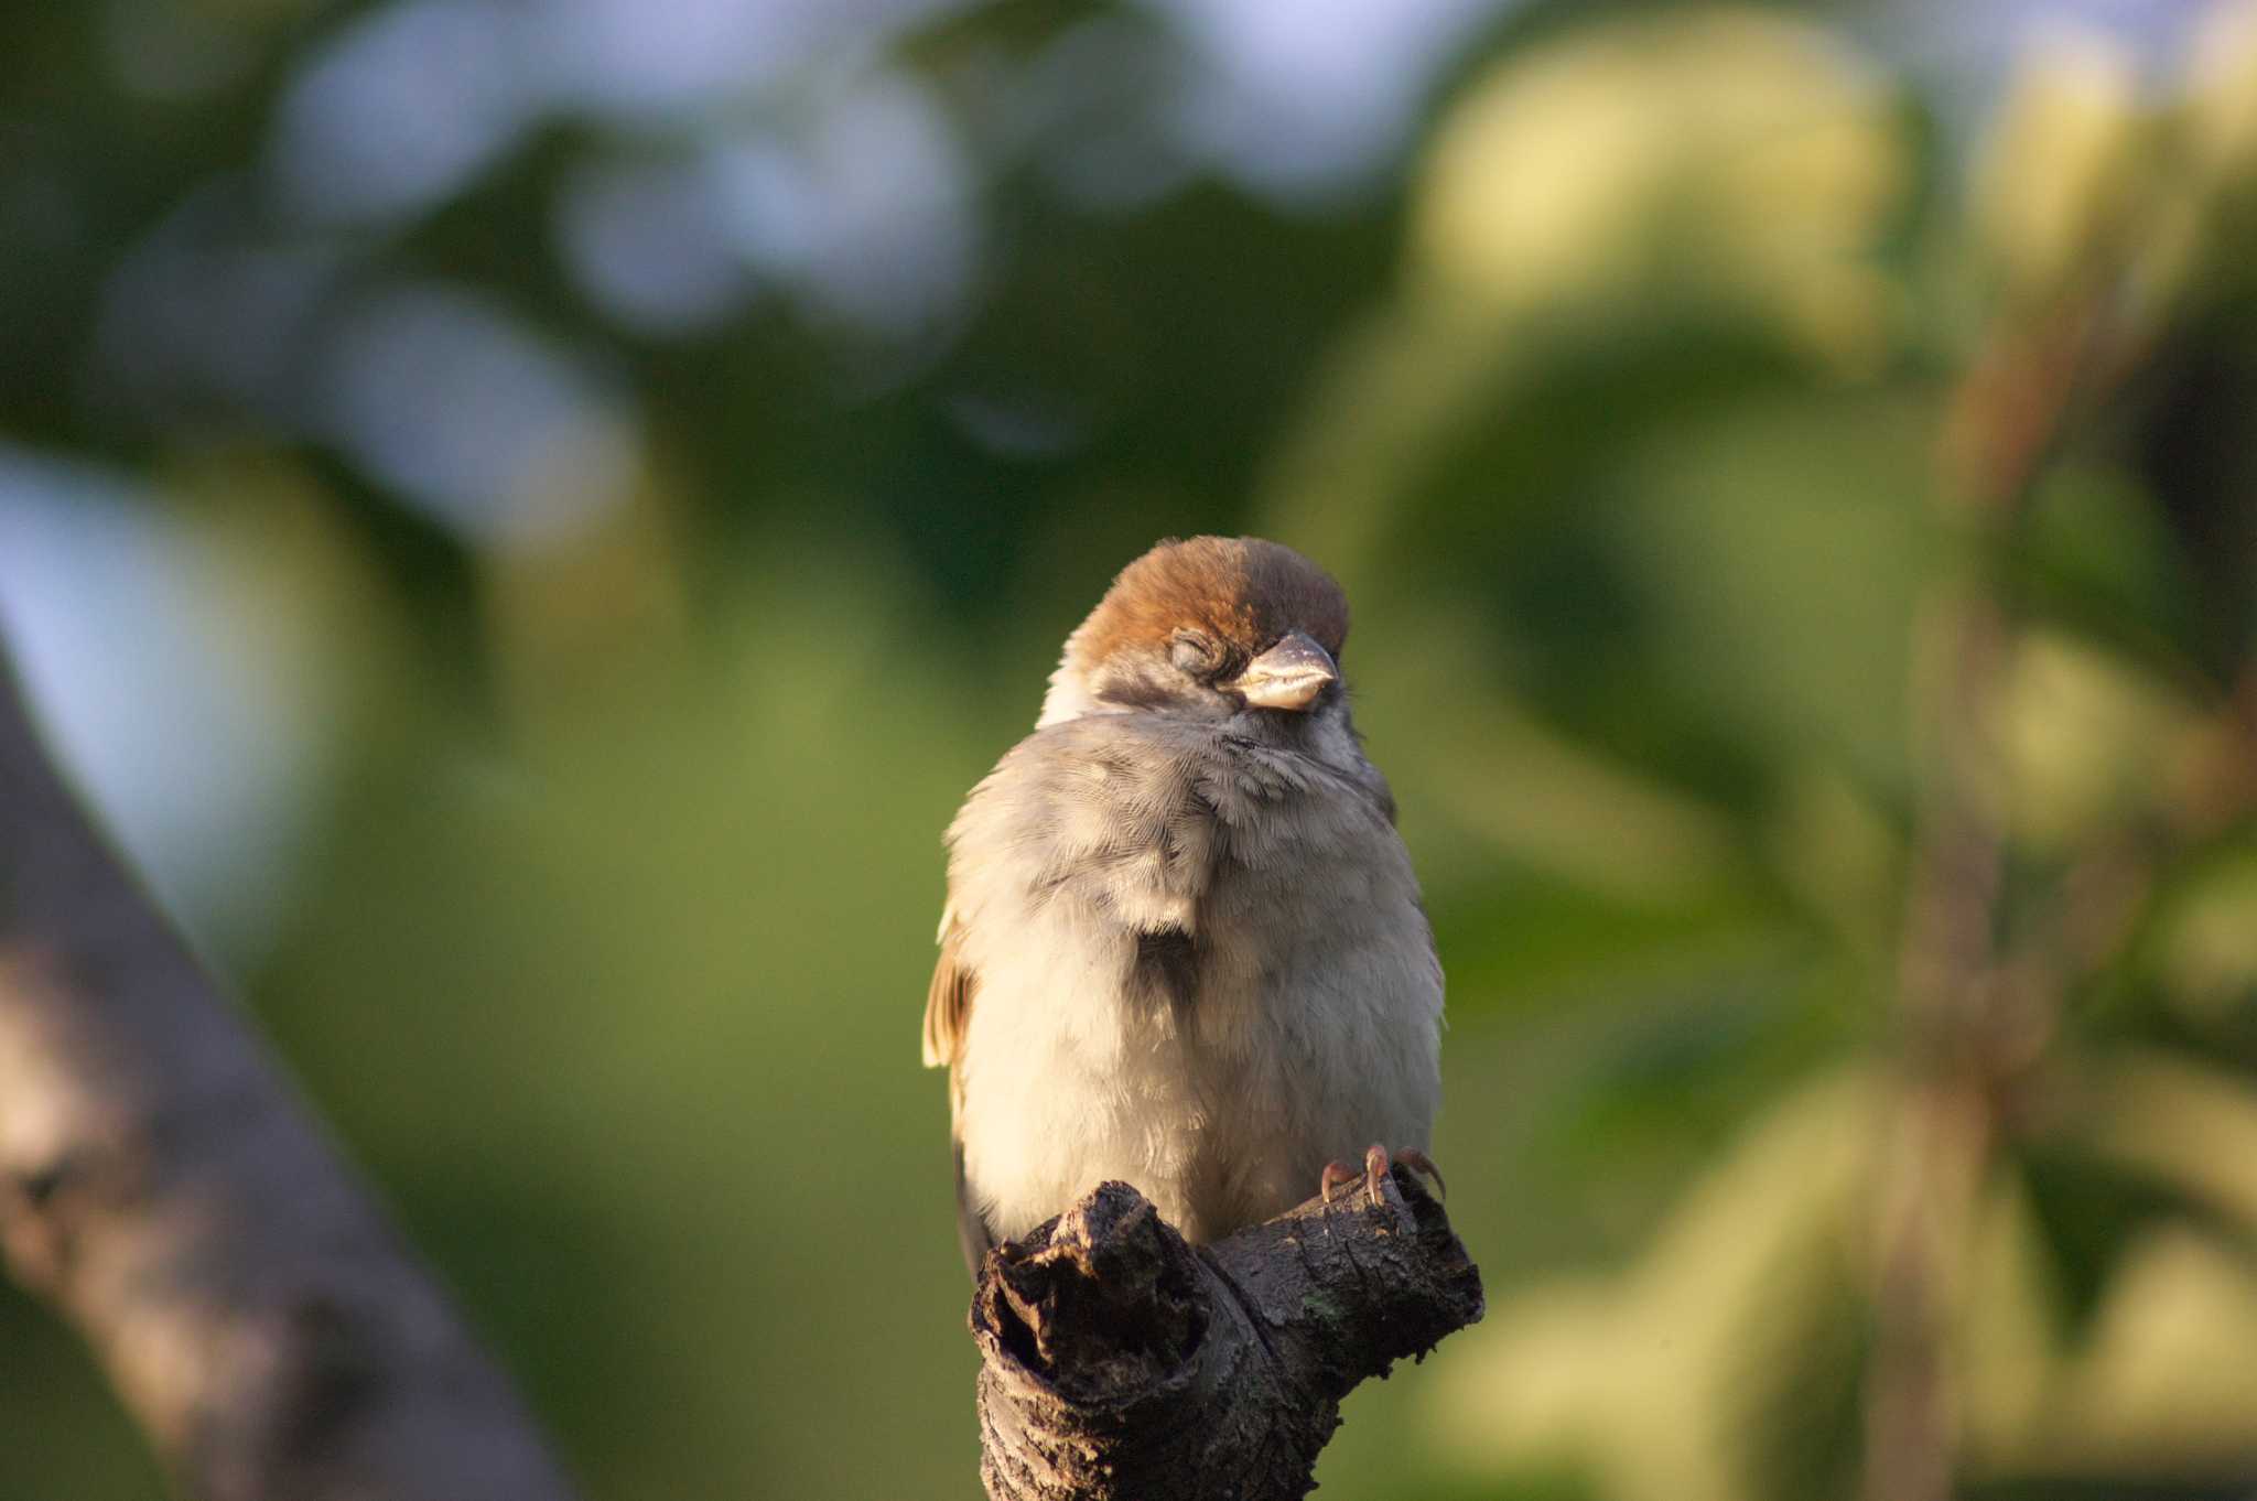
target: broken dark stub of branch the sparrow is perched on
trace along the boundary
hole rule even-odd
[[[1198,1248],[1106,1183],[980,1273],[980,1476],[995,1501],[1298,1499],[1341,1397],[1481,1311],[1399,1167],[1379,1203],[1311,1199]]]

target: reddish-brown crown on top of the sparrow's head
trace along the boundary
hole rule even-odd
[[[1070,650],[1095,666],[1122,650],[1165,650],[1178,630],[1203,630],[1244,657],[1305,630],[1338,657],[1347,596],[1320,567],[1262,537],[1169,537],[1122,569]]]

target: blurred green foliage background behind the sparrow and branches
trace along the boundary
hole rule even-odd
[[[1241,9],[9,16],[0,607],[126,844],[594,1496],[968,1496],[937,835],[1259,530],[1492,1287],[1327,1494],[2246,1490],[2257,11],[1467,5],[1325,176],[1185,124]],[[0,1496],[158,1492],[0,1348]]]

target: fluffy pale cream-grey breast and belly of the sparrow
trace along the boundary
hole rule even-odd
[[[1334,1156],[1426,1142],[1442,986],[1377,772],[1072,720],[1004,756],[950,846],[980,977],[959,1131],[1000,1235],[1126,1178],[1203,1239]]]

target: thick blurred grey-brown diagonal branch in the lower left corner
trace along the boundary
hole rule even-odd
[[[50,767],[0,652],[0,1253],[183,1494],[562,1501],[501,1372]]]

